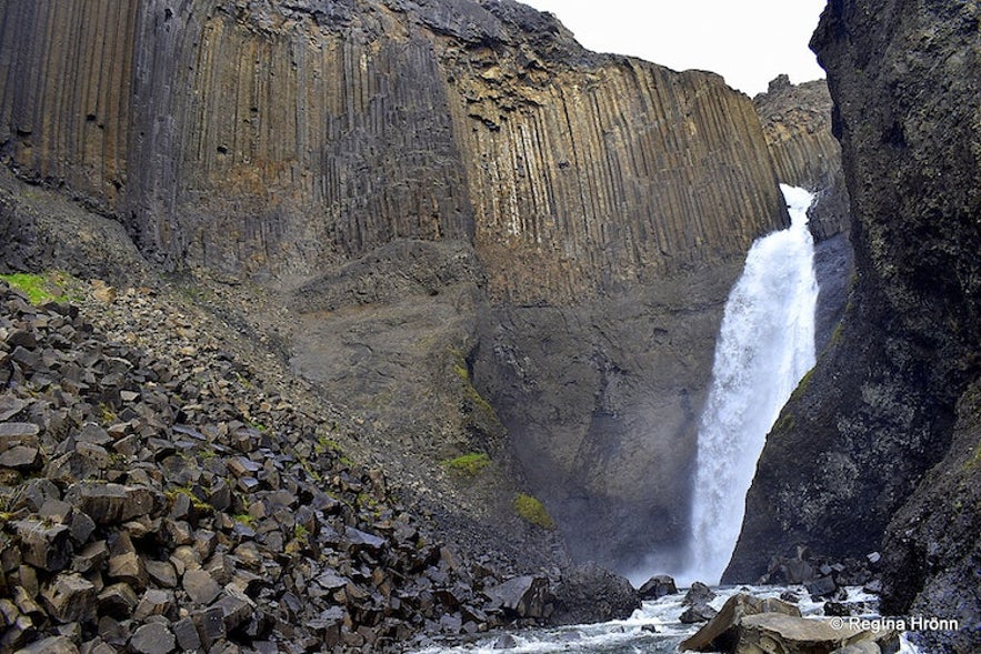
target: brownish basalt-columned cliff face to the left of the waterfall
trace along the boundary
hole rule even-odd
[[[787,221],[745,97],[510,0],[10,0],[0,29],[21,178],[287,294],[296,370],[430,456],[509,427],[579,552],[682,537],[722,303]]]

